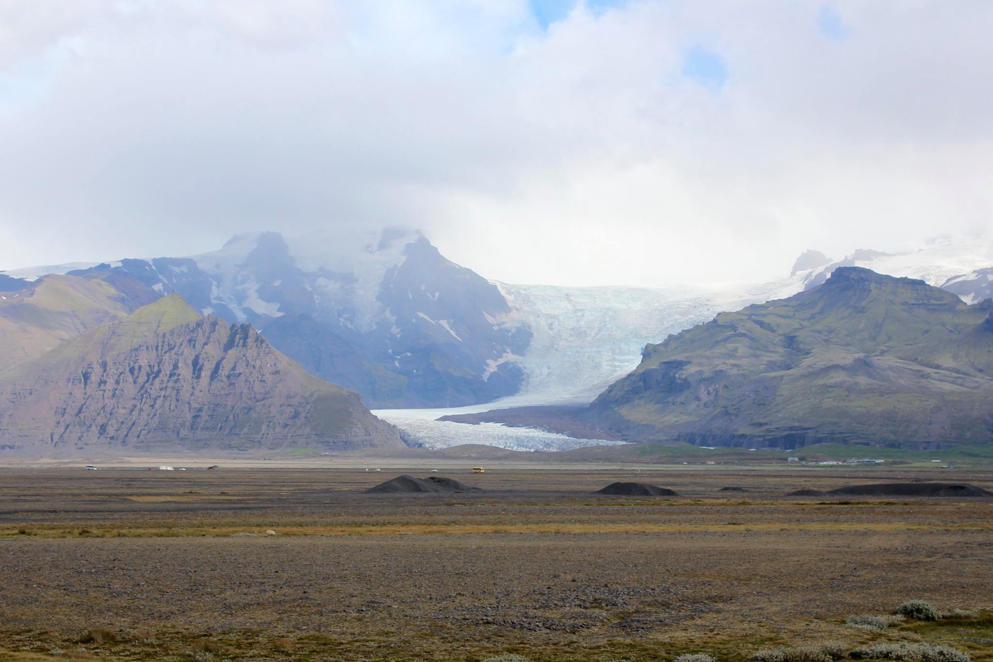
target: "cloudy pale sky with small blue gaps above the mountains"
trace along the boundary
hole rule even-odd
[[[515,283],[910,250],[993,225],[990,34],[987,0],[0,0],[0,270],[386,226]]]

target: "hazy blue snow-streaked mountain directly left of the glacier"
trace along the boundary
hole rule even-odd
[[[416,232],[286,239],[238,235],[193,258],[71,272],[176,292],[205,315],[248,322],[314,374],[373,407],[450,407],[515,393],[530,339],[497,287]],[[135,295],[137,296],[137,289]]]

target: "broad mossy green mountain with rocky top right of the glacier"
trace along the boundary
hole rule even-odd
[[[648,345],[586,416],[631,439],[926,448],[993,441],[993,305],[841,268]]]

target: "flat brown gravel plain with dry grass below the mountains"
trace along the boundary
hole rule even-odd
[[[0,659],[993,660],[993,497],[786,496],[988,467],[393,464],[0,468]]]

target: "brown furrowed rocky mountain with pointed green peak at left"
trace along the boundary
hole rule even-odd
[[[172,295],[0,375],[0,445],[59,456],[402,443],[357,394],[250,325],[201,318]]]

